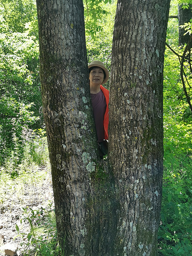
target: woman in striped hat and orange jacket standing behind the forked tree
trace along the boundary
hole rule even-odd
[[[109,124],[109,91],[102,86],[109,79],[109,71],[101,61],[89,65],[90,94],[101,159],[107,154]]]

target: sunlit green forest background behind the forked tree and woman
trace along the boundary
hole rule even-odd
[[[86,1],[84,6],[88,62],[100,60],[110,69],[116,1]],[[177,14],[178,1],[171,0],[169,15]],[[49,158],[42,116],[35,1],[1,0],[0,20],[1,184],[5,179],[19,180],[32,171],[32,165],[49,166]],[[178,55],[183,54],[184,48],[178,47],[177,18],[169,18],[166,42]],[[166,47],[164,180],[158,250],[160,255],[187,256],[192,255],[192,112],[183,90],[178,55]],[[188,62],[184,68],[190,97],[192,74]],[[109,83],[106,87],[109,89]]]

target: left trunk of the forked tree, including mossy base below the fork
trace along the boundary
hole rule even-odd
[[[113,255],[114,182],[100,162],[82,0],[37,0],[40,78],[59,242],[66,256]]]

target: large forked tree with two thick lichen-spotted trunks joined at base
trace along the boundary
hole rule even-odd
[[[100,161],[82,0],[37,0],[40,78],[58,238],[65,255],[156,255],[168,0],[120,0],[109,162]]]

